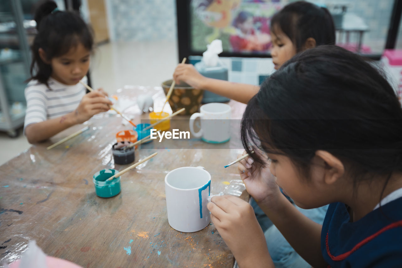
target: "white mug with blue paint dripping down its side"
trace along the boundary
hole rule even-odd
[[[203,167],[180,167],[165,177],[169,225],[180,232],[197,232],[211,221],[207,209],[211,175]]]

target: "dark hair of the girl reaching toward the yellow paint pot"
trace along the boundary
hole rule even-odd
[[[315,4],[297,1],[282,8],[271,19],[271,32],[282,31],[296,47],[303,50],[306,40],[316,40],[316,45],[335,45],[335,26],[328,9]]]

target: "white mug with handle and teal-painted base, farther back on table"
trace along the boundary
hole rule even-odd
[[[209,143],[224,143],[230,140],[231,108],[225,103],[208,103],[202,105],[200,113],[190,117],[190,131],[193,136]],[[194,131],[195,119],[201,118],[201,130]]]

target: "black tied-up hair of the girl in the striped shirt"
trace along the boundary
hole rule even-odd
[[[57,10],[57,4],[52,0],[40,2],[34,18],[38,33],[31,46],[33,59],[29,80],[36,79],[47,85],[52,69],[39,56],[39,48],[45,51],[48,61],[68,53],[79,43],[92,51],[93,35],[79,14]]]

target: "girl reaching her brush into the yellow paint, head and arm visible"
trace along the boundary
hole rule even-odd
[[[246,15],[241,17],[247,18]],[[306,1],[285,6],[273,16],[270,28],[273,45],[271,56],[276,70],[296,53],[318,45],[335,44],[331,14],[326,8]],[[255,85],[207,78],[192,64],[178,64],[173,78],[176,83],[184,81],[196,89],[205,89],[242,103],[248,103],[260,89]]]

